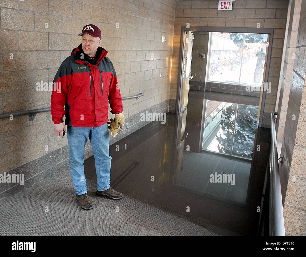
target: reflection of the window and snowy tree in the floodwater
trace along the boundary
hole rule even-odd
[[[202,149],[252,159],[258,109],[206,100]]]

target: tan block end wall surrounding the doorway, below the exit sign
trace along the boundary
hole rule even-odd
[[[271,93],[266,96],[263,117],[263,127],[271,127],[270,114],[275,109],[287,9],[288,0],[236,0],[232,10],[218,10],[218,1],[176,1],[169,111],[174,112],[177,98],[181,26],[189,22],[190,26],[257,28],[260,23],[261,28],[274,28],[268,74]]]

